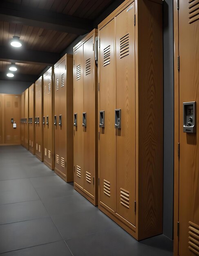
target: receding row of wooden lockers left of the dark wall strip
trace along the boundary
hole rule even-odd
[[[21,97],[21,144],[138,240],[162,233],[160,3],[123,2]]]

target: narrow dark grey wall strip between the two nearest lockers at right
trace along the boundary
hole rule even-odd
[[[164,191],[163,234],[173,239],[174,74],[173,0],[163,1],[164,44]]]

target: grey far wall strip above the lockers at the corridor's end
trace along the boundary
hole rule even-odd
[[[30,85],[30,82],[0,80],[0,93],[21,94]]]

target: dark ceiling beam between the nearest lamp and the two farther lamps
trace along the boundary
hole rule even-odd
[[[60,54],[53,52],[40,52],[13,47],[0,46],[0,61],[19,62],[51,66],[60,58]]]

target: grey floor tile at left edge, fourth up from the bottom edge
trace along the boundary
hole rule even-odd
[[[39,200],[29,179],[0,181],[0,204]]]

